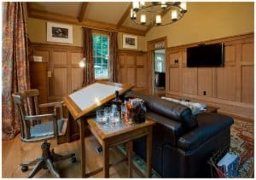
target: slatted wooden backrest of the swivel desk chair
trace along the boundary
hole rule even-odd
[[[20,113],[20,136],[22,138],[30,138],[31,123],[25,120],[25,116],[38,115],[40,113],[38,108],[38,95],[38,90],[26,90],[12,95]]]

